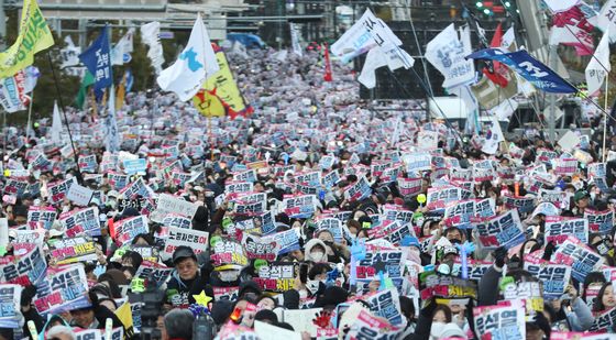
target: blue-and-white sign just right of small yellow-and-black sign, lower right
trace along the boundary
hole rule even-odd
[[[571,277],[571,267],[564,264],[539,263],[527,260],[524,270],[543,284],[543,298],[557,299],[565,293]]]

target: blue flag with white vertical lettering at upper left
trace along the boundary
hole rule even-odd
[[[102,96],[102,90],[110,87],[111,55],[109,53],[108,29],[105,26],[98,39],[79,55],[79,61],[86,65],[88,70],[95,76],[95,95],[97,98]]]

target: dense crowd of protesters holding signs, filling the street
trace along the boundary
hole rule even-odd
[[[6,130],[0,339],[615,331],[614,173],[594,138],[487,147],[496,127],[461,138],[421,101],[360,100],[339,63],[323,81],[317,52],[249,54],[228,53],[245,117],[151,91],[117,112],[118,153],[105,110],[67,109],[77,155],[51,120]]]

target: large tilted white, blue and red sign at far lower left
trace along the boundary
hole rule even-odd
[[[58,314],[90,306],[87,298],[88,279],[84,265],[74,264],[50,271],[37,286],[34,306],[42,315]]]

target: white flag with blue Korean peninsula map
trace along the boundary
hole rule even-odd
[[[218,69],[210,37],[201,14],[198,14],[188,44],[177,61],[161,73],[156,81],[163,90],[173,91],[179,100],[187,101],[201,89],[207,77]]]

